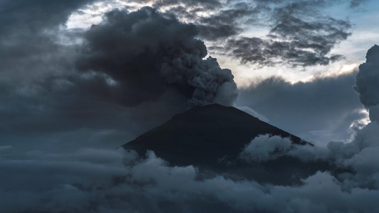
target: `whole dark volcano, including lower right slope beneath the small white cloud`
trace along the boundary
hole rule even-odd
[[[316,171],[343,172],[322,160],[304,162],[282,156],[247,163],[240,158],[240,153],[252,139],[267,134],[290,138],[292,144],[313,146],[234,107],[211,104],[177,114],[123,147],[136,150],[141,156],[147,150],[153,150],[170,166],[193,165],[202,175],[222,174],[231,179],[276,185],[300,183],[301,179]]]

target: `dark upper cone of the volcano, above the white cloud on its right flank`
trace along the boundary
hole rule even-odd
[[[140,153],[153,150],[172,164],[212,164],[219,158],[236,157],[252,139],[265,134],[305,143],[234,107],[210,104],[177,114],[124,147]]]

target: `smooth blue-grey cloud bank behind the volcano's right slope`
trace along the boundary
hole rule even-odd
[[[349,127],[365,116],[351,85],[357,72],[291,84],[272,77],[240,88],[237,106],[249,107],[269,122],[307,140],[349,139]]]

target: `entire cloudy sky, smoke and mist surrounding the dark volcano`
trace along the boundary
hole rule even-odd
[[[5,212],[377,210],[376,0],[0,0],[0,13]],[[354,172],[199,181],[193,165],[116,149],[211,103],[316,145],[263,135],[247,162],[279,149]]]

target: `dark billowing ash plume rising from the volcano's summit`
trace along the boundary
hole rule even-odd
[[[85,34],[80,70],[103,72],[121,92],[124,106],[157,100],[170,88],[188,97],[188,106],[231,105],[237,87],[229,69],[208,57],[196,26],[150,7],[113,10]]]

